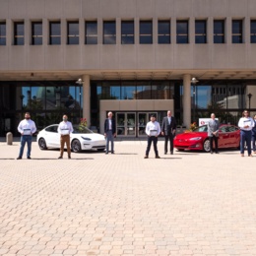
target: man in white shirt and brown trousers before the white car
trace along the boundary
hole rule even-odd
[[[59,123],[58,133],[60,134],[60,157],[59,160],[63,158],[64,145],[67,145],[68,158],[71,159],[71,149],[70,149],[70,134],[73,132],[72,123],[68,121],[68,116],[63,115],[63,121]]]

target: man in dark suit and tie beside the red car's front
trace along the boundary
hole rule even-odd
[[[168,140],[170,144],[170,154],[173,155],[173,139],[175,137],[175,131],[176,131],[176,119],[174,116],[171,116],[171,111],[167,111],[167,116],[163,117],[162,123],[161,123],[161,135],[164,136],[165,142],[164,142],[164,154],[167,154],[167,145]]]

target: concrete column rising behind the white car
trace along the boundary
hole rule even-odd
[[[90,90],[90,76],[84,75],[83,83],[83,118],[87,118],[88,127],[91,126],[91,90]]]

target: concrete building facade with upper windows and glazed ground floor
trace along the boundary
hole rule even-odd
[[[145,136],[151,113],[189,127],[256,113],[255,0],[0,0],[0,135],[87,118]],[[191,83],[196,78],[197,83]],[[81,79],[82,81],[78,81]]]

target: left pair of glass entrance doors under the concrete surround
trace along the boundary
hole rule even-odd
[[[136,114],[134,112],[116,113],[116,132],[118,136],[136,136]]]

